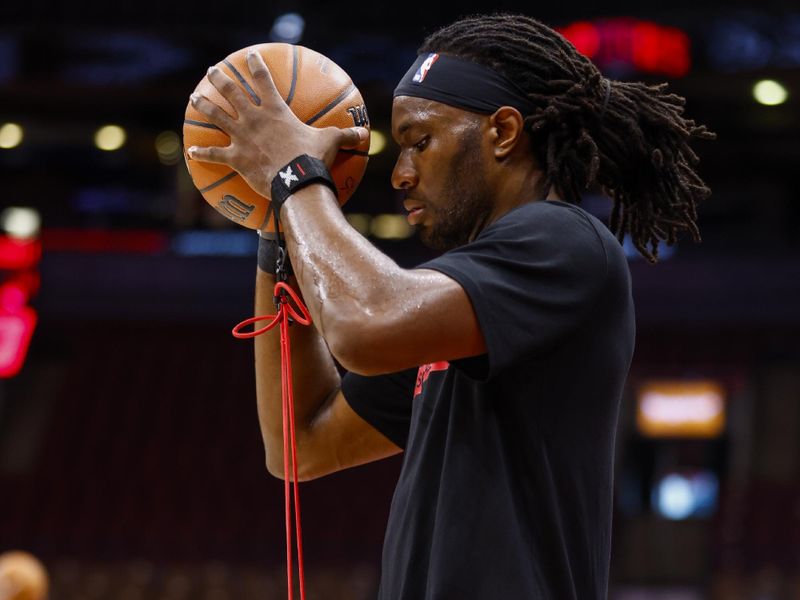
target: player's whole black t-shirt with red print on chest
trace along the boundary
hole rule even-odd
[[[580,207],[539,201],[418,268],[461,284],[487,353],[343,378],[405,450],[380,599],[605,599],[635,332],[621,245]]]

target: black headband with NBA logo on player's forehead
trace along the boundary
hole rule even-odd
[[[537,108],[513,81],[489,67],[436,53],[417,57],[394,96],[426,98],[483,114],[513,106],[529,115]]]

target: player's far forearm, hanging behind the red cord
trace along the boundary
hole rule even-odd
[[[290,282],[296,289],[296,283]],[[274,314],[275,279],[258,269],[255,314]],[[258,326],[259,324],[257,324]],[[263,325],[263,323],[262,323]],[[279,326],[255,339],[256,396],[258,419],[264,440],[267,468],[283,472],[283,412],[281,402],[281,349]],[[339,389],[339,372],[324,340],[314,325],[289,327],[292,352],[292,383],[298,445],[310,430],[314,417]],[[302,451],[302,448],[298,448]]]

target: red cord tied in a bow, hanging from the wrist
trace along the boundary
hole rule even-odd
[[[280,324],[281,332],[281,401],[283,407],[283,489],[286,507],[286,578],[289,600],[293,596],[292,584],[292,487],[294,487],[295,532],[297,534],[297,571],[300,583],[300,600],[306,598],[305,572],[303,569],[303,530],[300,526],[300,489],[297,482],[297,441],[294,428],[294,392],[292,391],[292,353],[289,346],[289,325],[292,321],[301,325],[311,324],[311,315],[295,291],[283,281],[275,284],[274,315],[251,317],[233,328],[233,337],[240,339],[254,338]],[[289,302],[291,298],[292,303]],[[297,309],[295,309],[295,306]],[[299,311],[299,312],[298,312]],[[272,319],[261,329],[242,333],[241,329],[257,321]],[[291,448],[290,448],[291,447]],[[291,451],[291,469],[294,486],[289,483],[289,452]]]

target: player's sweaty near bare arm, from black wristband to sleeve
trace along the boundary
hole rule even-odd
[[[308,186],[281,210],[300,289],[336,360],[377,375],[485,351],[463,288],[404,269],[349,226],[333,194]]]

